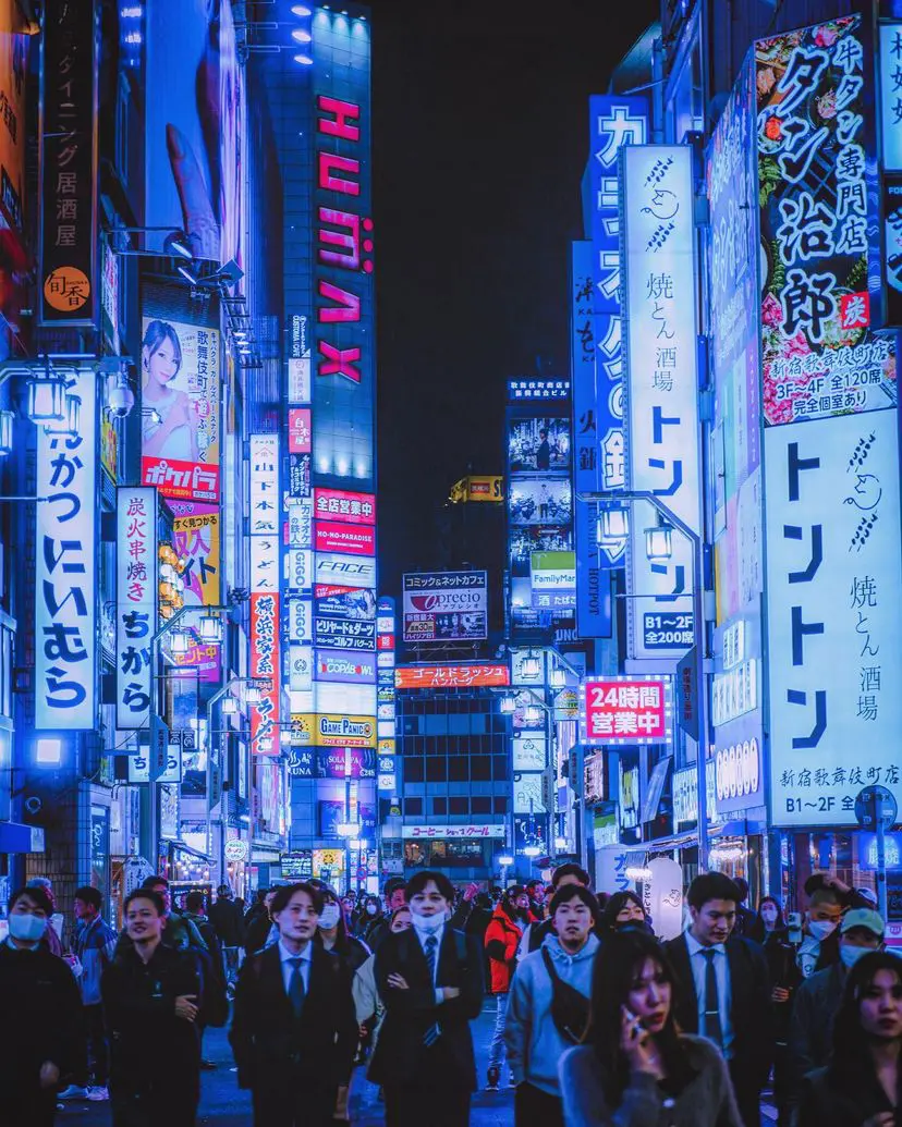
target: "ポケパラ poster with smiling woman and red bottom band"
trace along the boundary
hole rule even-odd
[[[142,302],[141,478],[163,497],[219,502],[220,334],[188,320],[187,298],[148,286]]]

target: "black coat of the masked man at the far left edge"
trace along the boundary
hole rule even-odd
[[[45,947],[27,951],[0,943],[0,999],[2,1091],[37,1091],[45,1061],[55,1064],[62,1076],[85,1068],[81,994],[59,956]]]

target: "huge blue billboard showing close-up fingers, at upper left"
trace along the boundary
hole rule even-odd
[[[160,245],[166,231],[186,231],[195,257],[240,265],[246,170],[230,0],[159,0],[145,34],[147,73],[159,80],[145,107],[144,222]]]

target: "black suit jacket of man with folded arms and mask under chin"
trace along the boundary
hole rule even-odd
[[[462,948],[462,951],[460,950]],[[460,955],[466,952],[461,960]],[[399,974],[409,990],[389,986],[388,977]],[[483,1009],[483,951],[474,935],[445,926],[439,950],[439,986],[456,986],[460,996],[435,1004],[426,956],[413,929],[389,934],[375,952],[375,984],[386,1006],[386,1020],[370,1066],[377,1084],[404,1086],[412,1077],[419,1086],[433,1080],[436,1088],[476,1088],[476,1062],[470,1022]],[[431,1076],[436,1055],[423,1044],[427,1030],[441,1030],[443,1068]]]

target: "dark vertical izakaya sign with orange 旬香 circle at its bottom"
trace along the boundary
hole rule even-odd
[[[94,326],[98,309],[94,0],[44,5],[41,76],[39,320]]]

